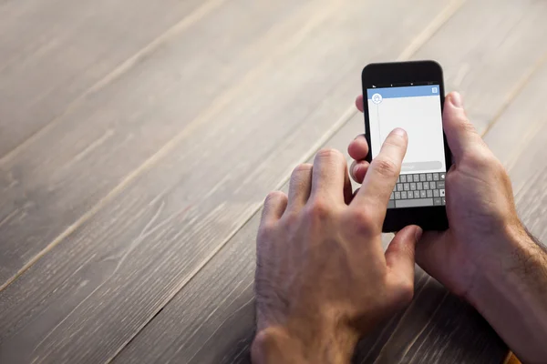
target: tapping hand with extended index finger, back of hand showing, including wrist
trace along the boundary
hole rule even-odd
[[[360,336],[409,303],[421,229],[402,229],[385,253],[381,245],[407,143],[401,129],[387,136],[353,198],[346,159],[330,149],[294,169],[288,197],[266,197],[253,362],[349,362]]]

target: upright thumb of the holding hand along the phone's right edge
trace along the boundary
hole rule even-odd
[[[465,114],[461,96],[457,92],[449,93],[445,99],[442,125],[456,163],[470,148],[482,145],[482,139]]]

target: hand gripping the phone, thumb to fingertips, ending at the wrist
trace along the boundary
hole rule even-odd
[[[362,96],[356,106],[363,111]],[[458,93],[446,97],[443,127],[454,162],[446,177],[449,229],[426,232],[416,259],[453,293],[467,297],[477,272],[497,264],[501,242],[521,234],[523,227],[507,172],[468,120]],[[360,183],[368,168],[365,137],[357,136],[348,152],[355,159],[352,177]]]

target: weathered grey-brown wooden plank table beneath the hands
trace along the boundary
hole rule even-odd
[[[433,58],[547,238],[547,2],[0,2],[0,362],[248,362],[263,197],[363,131],[369,62]],[[386,237],[386,243],[389,237]],[[500,363],[418,270],[362,363]]]

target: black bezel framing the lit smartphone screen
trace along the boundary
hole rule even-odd
[[[397,85],[408,83],[432,82],[439,85],[440,108],[444,109],[444,82],[442,68],[435,61],[412,61],[369,64],[363,68],[361,74],[363,83],[363,108],[365,114],[365,137],[368,146],[370,144],[370,126],[368,116],[368,103],[366,90],[377,85]],[[452,164],[447,137],[444,134],[445,162],[447,171]],[[366,160],[370,162],[372,151],[368,152]],[[394,232],[408,225],[418,225],[424,230],[445,230],[449,227],[447,211],[445,206],[435,207],[407,207],[388,208],[382,231]]]

